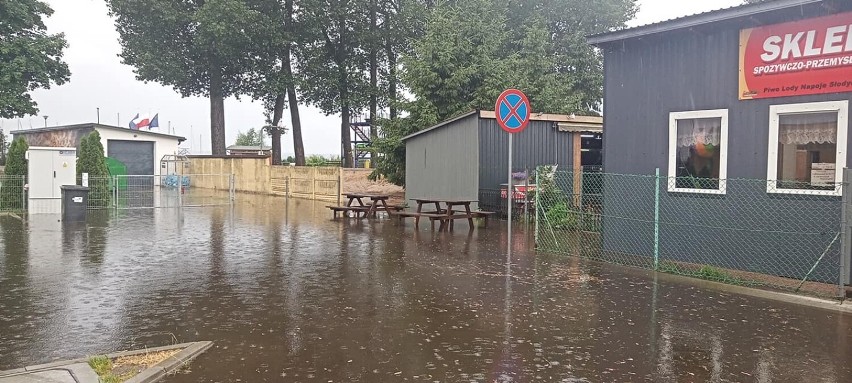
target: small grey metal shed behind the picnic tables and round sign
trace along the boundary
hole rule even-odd
[[[539,165],[599,166],[601,135],[600,117],[534,113],[513,138],[513,172],[526,171],[534,183]],[[469,199],[483,210],[504,209],[508,140],[493,111],[473,111],[404,137],[406,198]]]

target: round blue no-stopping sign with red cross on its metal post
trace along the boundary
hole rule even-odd
[[[512,186],[512,136],[526,129],[530,122],[530,101],[517,89],[506,89],[497,97],[494,105],[497,125],[509,133],[509,171],[506,184],[507,218],[509,220],[509,251],[512,246],[512,205],[515,202],[515,190]]]

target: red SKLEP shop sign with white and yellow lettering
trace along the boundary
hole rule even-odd
[[[852,12],[740,31],[740,100],[852,92]]]

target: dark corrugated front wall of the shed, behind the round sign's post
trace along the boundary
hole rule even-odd
[[[530,121],[527,128],[512,139],[513,171],[528,169],[530,175],[539,165],[559,165],[571,169],[573,155],[571,133],[559,132],[550,121]],[[483,209],[501,209],[500,184],[508,178],[509,134],[497,120],[479,122],[479,200]],[[530,179],[530,183],[535,182]]]

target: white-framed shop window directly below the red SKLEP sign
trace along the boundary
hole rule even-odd
[[[771,105],[767,193],[841,195],[849,101]]]

